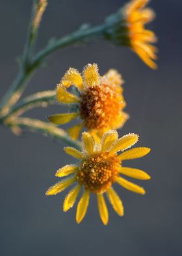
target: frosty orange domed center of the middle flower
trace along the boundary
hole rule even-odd
[[[92,86],[81,95],[81,118],[88,129],[116,128],[125,106],[121,88],[101,84]]]

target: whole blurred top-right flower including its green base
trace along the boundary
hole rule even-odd
[[[145,28],[155,14],[151,8],[145,8],[149,0],[131,0],[116,14],[106,20],[106,37],[116,44],[129,46],[151,69],[157,69],[157,48],[155,33]]]

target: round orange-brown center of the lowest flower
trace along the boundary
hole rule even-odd
[[[120,170],[120,160],[116,155],[94,153],[81,162],[76,174],[79,183],[92,193],[103,193],[114,182]]]

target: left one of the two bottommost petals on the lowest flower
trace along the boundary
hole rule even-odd
[[[76,214],[76,221],[77,223],[81,223],[83,218],[85,217],[86,210],[88,208],[90,193],[88,190],[86,190],[83,193],[83,196],[79,200],[78,206],[77,206],[77,214]]]

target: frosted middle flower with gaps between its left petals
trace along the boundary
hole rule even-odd
[[[95,63],[86,65],[83,76],[76,69],[70,68],[57,86],[57,100],[60,103],[75,104],[72,105],[72,111],[75,109],[75,112],[48,118],[52,123],[63,124],[79,117],[81,122],[68,129],[73,139],[77,139],[83,126],[94,138],[110,129],[121,128],[129,118],[123,112],[125,101],[122,83],[122,76],[114,69],[100,76]],[[66,88],[72,85],[76,86],[79,95],[68,92]]]

